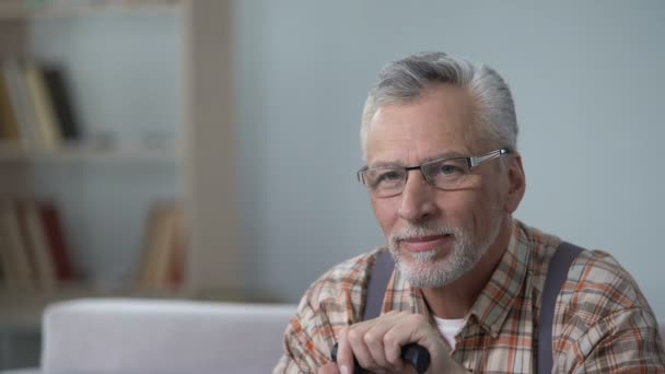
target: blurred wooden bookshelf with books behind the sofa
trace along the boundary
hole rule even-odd
[[[0,92],[0,332],[38,329],[46,305],[70,299],[245,297],[235,236],[232,5],[0,2],[0,75],[8,63],[43,74],[57,69],[75,118],[60,116],[56,93],[43,91],[38,97],[59,121],[47,129],[56,140],[43,141],[44,116],[34,112],[26,128],[28,117],[18,115],[25,107],[7,97],[2,106]],[[26,140],[27,131],[37,141]],[[56,212],[70,277],[56,277],[55,265],[39,272],[48,266],[35,248],[49,247],[40,207]],[[39,230],[40,239],[31,236]],[[27,265],[15,266],[25,255],[10,253],[11,241],[30,242],[32,257],[21,260]]]

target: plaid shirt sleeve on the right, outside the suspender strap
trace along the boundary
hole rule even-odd
[[[609,254],[581,255],[562,291],[555,367],[567,373],[665,373],[658,324],[634,279]]]

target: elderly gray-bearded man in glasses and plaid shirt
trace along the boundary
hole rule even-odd
[[[630,274],[605,252],[570,250],[512,217],[525,175],[513,100],[494,70],[441,52],[387,65],[361,140],[358,176],[387,245],[312,284],[276,373],[409,372],[410,343],[429,352],[428,373],[665,372],[654,314]],[[565,265],[553,266],[557,252]],[[382,313],[363,320],[382,256],[395,264]]]

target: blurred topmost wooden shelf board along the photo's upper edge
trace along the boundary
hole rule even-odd
[[[2,1],[0,19],[66,17],[108,11],[174,10],[190,0],[54,0]],[[34,3],[31,5],[31,3]]]

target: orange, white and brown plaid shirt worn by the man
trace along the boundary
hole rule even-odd
[[[514,220],[508,250],[455,337],[456,362],[474,372],[536,371],[540,295],[559,242]],[[285,352],[273,373],[316,373],[330,361],[339,330],[362,319],[378,250],[385,248],[342,262],[312,284],[287,328]],[[388,311],[430,314],[420,290],[398,271],[388,281],[383,312]],[[553,372],[665,373],[654,314],[635,281],[607,253],[578,256],[553,318]]]

